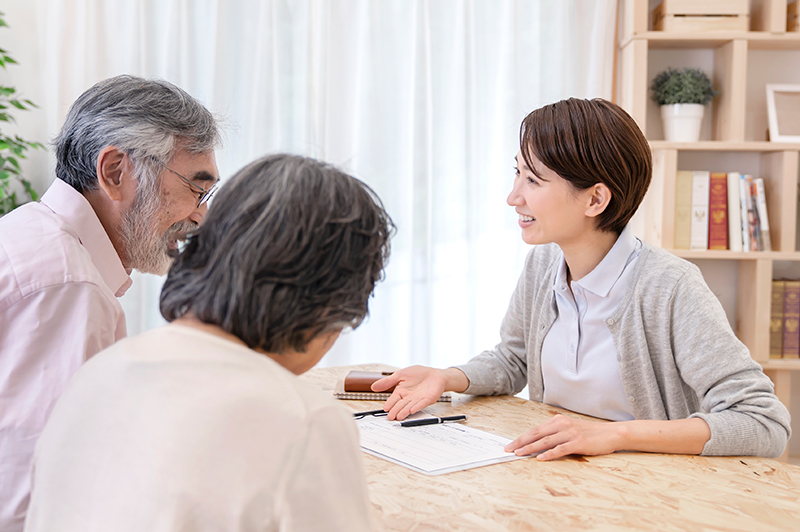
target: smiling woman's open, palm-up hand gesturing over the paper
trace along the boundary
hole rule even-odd
[[[445,391],[464,391],[469,380],[456,368],[435,369],[427,366],[411,366],[375,381],[373,392],[381,392],[396,386],[392,396],[383,404],[389,419],[405,419],[435,403]]]

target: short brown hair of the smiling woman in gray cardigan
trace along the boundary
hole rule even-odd
[[[622,233],[653,175],[650,145],[628,113],[600,98],[570,98],[526,116],[519,136],[528,168],[535,156],[578,190],[606,185],[611,201],[597,228]]]

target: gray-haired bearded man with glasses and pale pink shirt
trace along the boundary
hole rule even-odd
[[[78,367],[125,336],[132,269],[164,275],[218,180],[216,121],[159,80],[73,104],[39,203],[0,220],[0,530],[22,529],[36,440]]]

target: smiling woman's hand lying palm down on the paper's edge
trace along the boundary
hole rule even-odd
[[[517,455],[533,453],[539,460],[554,460],[568,454],[610,454],[622,449],[620,423],[584,421],[556,415],[506,445]]]

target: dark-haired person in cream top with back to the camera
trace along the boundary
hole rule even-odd
[[[368,530],[352,415],[296,377],[357,327],[392,222],[363,183],[277,155],[228,180],[169,271],[169,325],[75,375],[26,530]]]

